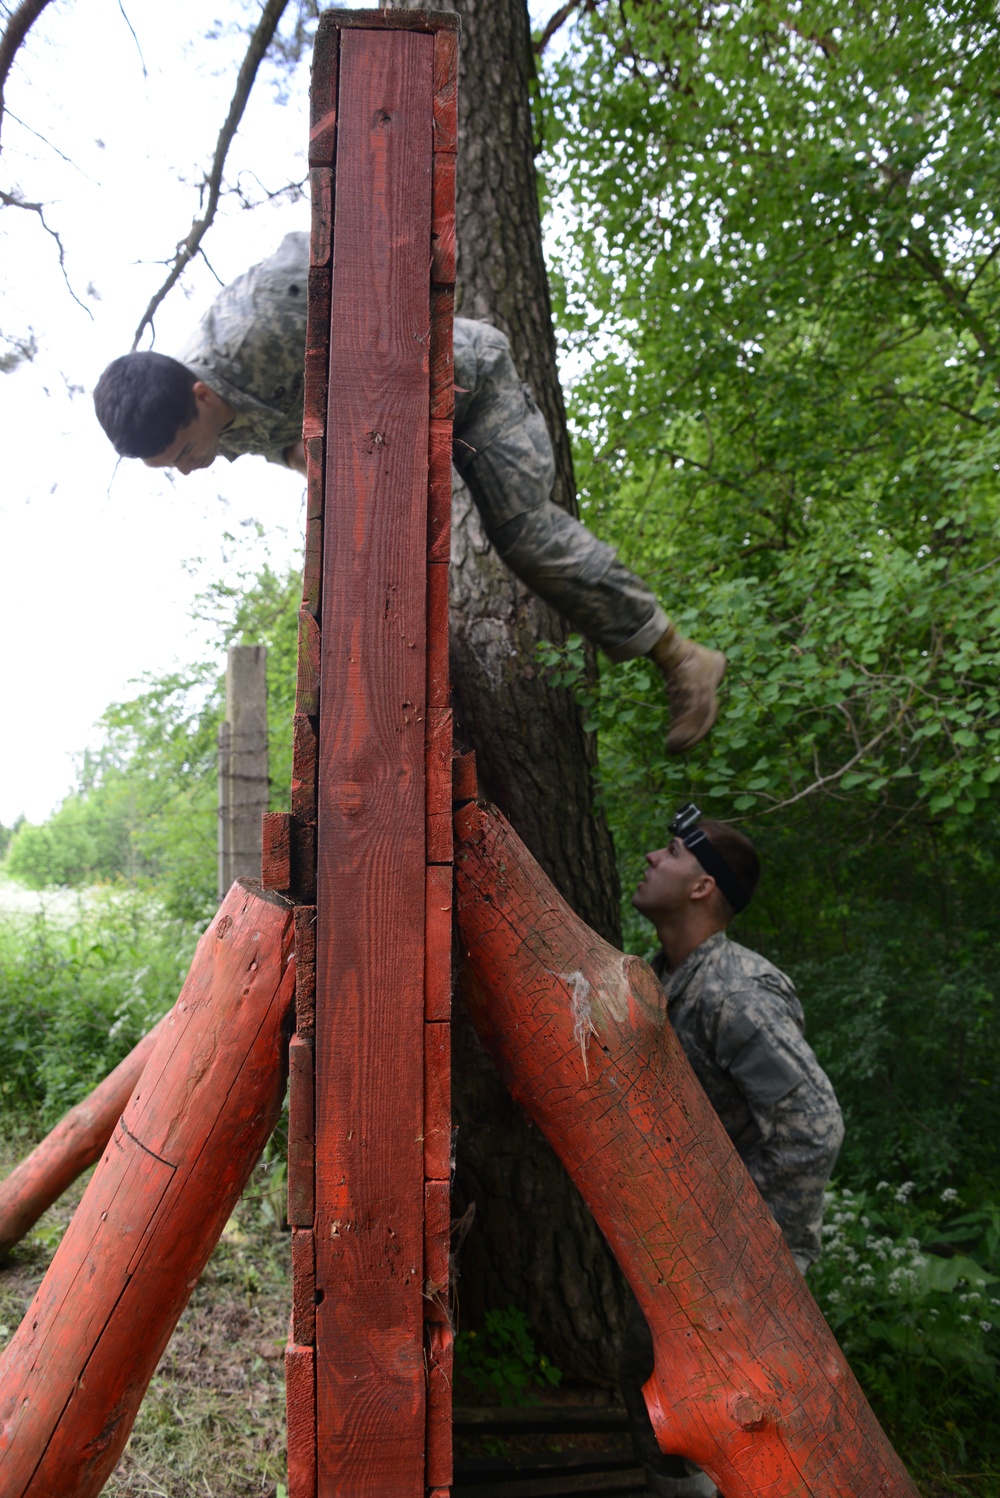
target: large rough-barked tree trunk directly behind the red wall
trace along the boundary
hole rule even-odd
[[[457,310],[510,339],[552,436],[554,497],[575,512],[542,256],[527,7],[524,0],[430,7],[455,9],[463,19]],[[454,505],[451,611],[457,731],[476,750],[481,788],[573,909],[618,944],[614,846],[593,807],[594,740],[573,697],[549,685],[536,658],[537,641],[561,643],[567,626],[497,559],[464,487]],[[558,1368],[606,1384],[623,1314],[621,1276],[552,1149],[504,1092],[461,1005],[452,1076],[455,1212],[476,1206],[460,1258],[461,1324],[475,1327],[487,1309],[513,1303]]]

